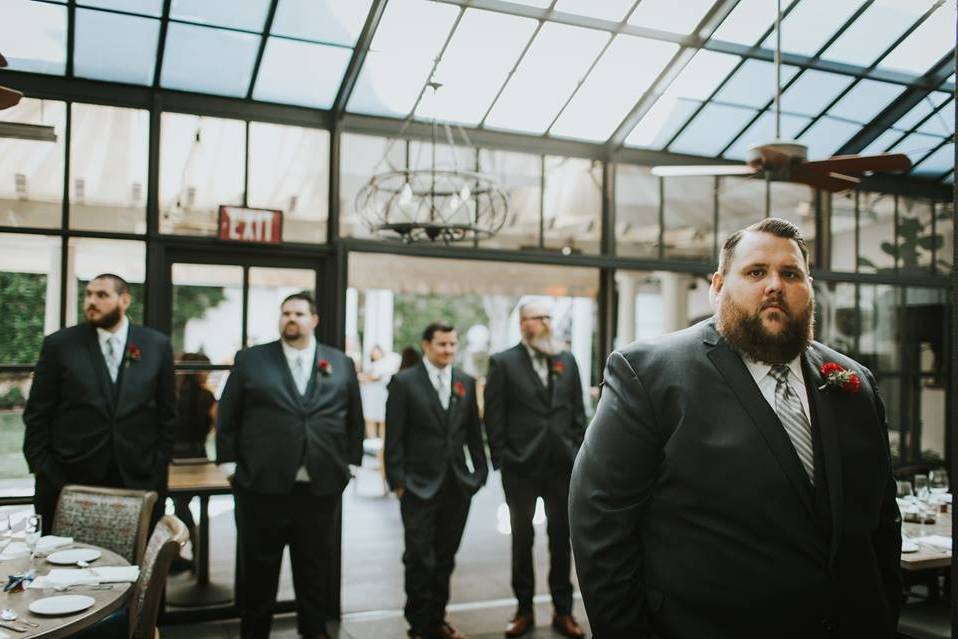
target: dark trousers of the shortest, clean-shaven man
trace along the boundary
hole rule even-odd
[[[406,550],[406,620],[413,631],[432,636],[446,618],[449,579],[469,516],[472,497],[446,472],[439,492],[420,499],[406,491],[400,500]]]

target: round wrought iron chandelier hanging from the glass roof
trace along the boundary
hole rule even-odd
[[[433,95],[441,86],[434,81],[427,84]],[[463,144],[457,145],[451,127],[432,119],[428,168],[411,168],[408,154],[403,167],[390,162],[389,152],[402,140],[414,112],[390,140],[376,166],[385,165],[388,170],[373,175],[356,195],[359,216],[374,235],[398,236],[404,242],[450,243],[492,237],[506,221],[507,198],[490,176],[459,167],[457,146],[472,149],[462,127],[457,131]],[[448,145],[445,153],[437,143],[440,129]],[[452,161],[444,164],[443,158],[437,157],[441,154],[451,156]],[[474,152],[473,157],[477,157]]]

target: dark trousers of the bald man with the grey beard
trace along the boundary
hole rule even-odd
[[[549,591],[557,613],[572,612],[572,549],[569,538],[569,480],[571,473],[526,477],[502,470],[502,489],[512,525],[512,590],[521,612],[532,612],[536,579],[532,561],[535,529],[532,517],[542,497],[549,535]]]

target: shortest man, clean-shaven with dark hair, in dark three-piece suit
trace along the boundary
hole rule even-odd
[[[386,479],[400,500],[405,613],[419,639],[467,639],[446,621],[449,578],[488,467],[476,382],[452,365],[457,344],[452,326],[427,326],[422,362],[392,378],[386,402]]]

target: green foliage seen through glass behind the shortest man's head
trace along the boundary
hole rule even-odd
[[[460,349],[463,337],[475,324],[489,325],[481,295],[415,295],[397,293],[393,300],[393,350],[420,348],[422,332],[430,322],[442,320],[456,327]]]

